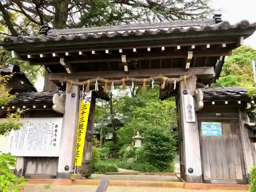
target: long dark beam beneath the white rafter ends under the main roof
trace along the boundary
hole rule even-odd
[[[136,51],[136,50],[135,50]],[[193,56],[194,57],[215,57],[220,55],[230,55],[231,51],[227,49],[220,49],[220,50],[194,50]],[[159,52],[151,52],[151,53],[130,53],[126,54],[127,60],[148,60],[148,59],[166,59],[166,58],[187,58],[187,51],[159,51]],[[67,61],[70,63],[87,63],[87,62],[105,62],[105,61],[121,61],[120,55],[110,55],[110,54],[103,54],[103,55],[88,55],[82,56],[77,55],[77,57],[68,57],[66,58]],[[29,59],[31,65],[54,65],[59,63],[58,57],[51,57],[51,58],[36,58],[36,59]]]

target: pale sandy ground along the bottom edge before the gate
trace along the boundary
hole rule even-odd
[[[51,186],[51,188],[45,188],[45,185],[28,185],[24,192],[96,192],[97,186],[92,185],[73,185],[73,186]],[[109,186],[106,192],[196,192],[198,190],[185,190],[178,188],[164,188],[164,187],[118,187]],[[232,190],[207,190],[200,192],[231,192]],[[245,190],[238,190],[238,192],[247,192]]]

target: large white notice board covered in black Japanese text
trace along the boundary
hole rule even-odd
[[[25,118],[8,136],[7,153],[17,157],[58,157],[62,118]]]

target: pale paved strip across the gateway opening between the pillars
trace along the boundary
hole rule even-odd
[[[108,178],[109,180],[134,180],[134,181],[180,181],[177,176],[159,176],[159,175],[104,175],[92,174],[92,179],[101,180]]]

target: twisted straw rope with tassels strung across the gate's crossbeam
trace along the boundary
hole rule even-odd
[[[162,75],[159,75],[159,76],[153,76],[153,77],[149,77],[149,78],[132,78],[132,77],[124,77],[122,79],[104,79],[104,78],[101,78],[101,77],[98,77],[98,78],[94,78],[94,79],[88,79],[86,81],[81,81],[81,82],[75,82],[73,80],[70,80],[70,79],[67,79],[67,78],[60,78],[60,82],[68,82],[69,83],[69,87],[67,89],[67,92],[70,92],[71,91],[71,88],[73,85],[75,86],[86,86],[86,92],[90,91],[90,83],[95,83],[95,82],[98,82],[98,81],[101,81],[101,82],[104,82],[104,92],[107,91],[107,87],[108,85],[111,85],[112,83],[114,84],[120,84],[122,83],[122,90],[125,89],[125,82],[129,81],[129,82],[142,82],[143,85],[142,85],[142,90],[145,90],[146,89],[146,82],[147,81],[155,81],[155,80],[163,80],[162,82],[162,85],[161,85],[161,89],[164,89],[165,86],[166,86],[166,83],[174,83],[174,82],[180,82],[180,81],[184,81],[184,87],[186,88],[187,87],[187,82],[186,82],[186,79],[187,78],[190,78],[190,77],[195,77],[194,74],[192,73],[189,73],[189,74],[186,74],[184,75],[183,78],[169,78],[169,77],[165,77],[165,76],[162,76]],[[196,83],[196,81],[195,81]],[[195,86],[193,86],[194,88]]]

